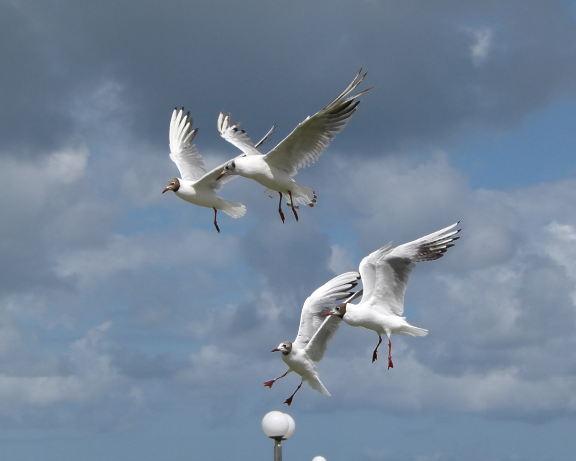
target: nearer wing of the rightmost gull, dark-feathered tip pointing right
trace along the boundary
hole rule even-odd
[[[459,221],[458,221],[459,223]],[[414,263],[434,261],[454,246],[452,242],[460,229],[451,231],[458,223],[445,227],[413,242],[404,243],[383,254],[376,262],[376,284],[368,300],[374,309],[401,315],[404,312],[404,293]]]

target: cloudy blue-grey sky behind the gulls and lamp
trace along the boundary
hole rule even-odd
[[[576,3],[0,2],[0,449],[72,461],[564,461],[576,449]],[[208,167],[221,110],[272,148],[360,68],[374,87],[295,179],[232,219],[161,194],[174,107]],[[287,211],[287,210],[285,210]],[[395,368],[342,325],[318,370],[270,350],[306,297],[389,241],[419,264]]]

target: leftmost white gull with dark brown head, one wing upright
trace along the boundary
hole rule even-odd
[[[240,218],[246,213],[246,207],[238,202],[224,200],[216,193],[225,182],[217,181],[223,165],[206,172],[202,156],[192,144],[198,132],[198,128],[192,130],[192,122],[190,112],[184,115],[184,108],[180,111],[174,109],[170,120],[170,159],[176,163],[181,178],[170,179],[162,193],[172,190],[182,200],[199,207],[213,208],[214,227],[220,233],[216,220],[218,210],[232,218]]]

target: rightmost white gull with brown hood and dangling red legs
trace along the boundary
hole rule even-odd
[[[388,369],[393,368],[391,335],[426,336],[428,330],[414,327],[401,317],[408,278],[421,261],[434,261],[444,256],[459,237],[460,229],[452,224],[418,240],[392,248],[392,242],[363,258],[359,271],[364,293],[358,304],[342,303],[327,316],[338,316],[352,327],[363,327],[378,334],[378,344],[372,354],[376,361],[382,335],[388,337]]]

